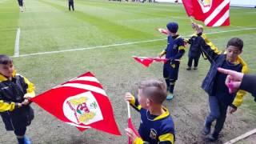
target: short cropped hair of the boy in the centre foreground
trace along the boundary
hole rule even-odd
[[[164,82],[156,79],[146,80],[140,83],[138,89],[155,103],[162,104],[166,100],[167,90]]]

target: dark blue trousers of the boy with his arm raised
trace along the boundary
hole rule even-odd
[[[210,114],[206,118],[206,126],[211,126],[211,123],[216,120],[214,134],[219,134],[226,120],[226,110],[228,105],[218,100],[215,96],[209,97]]]

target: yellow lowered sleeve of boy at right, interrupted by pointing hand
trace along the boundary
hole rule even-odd
[[[242,73],[247,74],[248,73],[248,66],[246,62],[243,61],[243,59],[239,56],[238,61],[242,64]],[[234,101],[232,103],[233,106],[238,107],[242,104],[242,98],[246,95],[245,90],[238,90],[238,93],[236,94]]]

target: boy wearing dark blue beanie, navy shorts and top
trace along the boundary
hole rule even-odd
[[[170,22],[166,27],[167,46],[166,50],[162,50],[162,53],[159,54],[159,58],[166,54],[166,58],[169,59],[163,66],[163,77],[166,79],[167,91],[169,91],[166,99],[171,100],[174,98],[174,85],[178,79],[179,59],[185,53],[185,44],[183,38],[177,34],[178,23]]]

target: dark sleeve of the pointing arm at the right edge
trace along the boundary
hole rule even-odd
[[[256,97],[256,75],[245,74],[240,89],[246,90]]]

